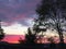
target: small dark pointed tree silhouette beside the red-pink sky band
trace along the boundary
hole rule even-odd
[[[28,34],[25,35],[26,44],[34,44],[35,34],[32,34],[31,28],[28,28]]]

